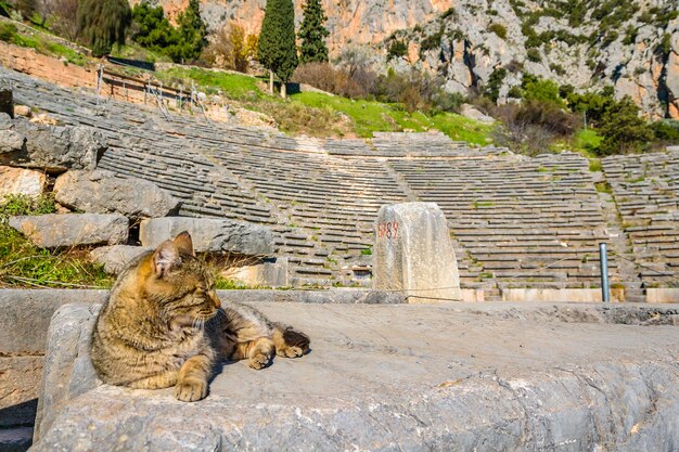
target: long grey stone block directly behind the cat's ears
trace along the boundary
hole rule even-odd
[[[212,218],[168,217],[143,220],[139,238],[143,246],[156,247],[177,234],[189,231],[197,253],[229,251],[246,256],[270,256],[274,251],[269,228]]]

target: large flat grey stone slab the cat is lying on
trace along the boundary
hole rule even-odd
[[[171,389],[88,390],[97,386],[87,357],[97,309],[62,308],[50,327],[46,416],[34,450],[679,445],[674,326],[512,320],[512,311],[533,308],[504,304],[489,307],[490,314],[486,305],[257,306],[308,333],[310,354],[276,359],[259,372],[244,362],[227,364],[196,403],[175,400]],[[546,312],[595,322],[576,315],[602,308],[592,307],[552,305]],[[605,308],[624,313],[638,307]]]

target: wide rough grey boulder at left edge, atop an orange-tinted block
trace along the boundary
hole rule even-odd
[[[48,172],[89,169],[106,150],[103,135],[87,126],[42,126],[0,114],[0,164]]]

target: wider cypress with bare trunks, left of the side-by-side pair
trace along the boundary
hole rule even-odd
[[[269,69],[269,90],[273,91],[276,74],[282,81],[281,95],[285,98],[285,83],[290,81],[298,64],[295,8],[292,0],[267,0],[258,53],[259,62]]]

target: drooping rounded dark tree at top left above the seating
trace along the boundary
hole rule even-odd
[[[95,56],[105,55],[114,43],[125,43],[130,17],[127,0],[81,0],[78,5],[78,35]]]

